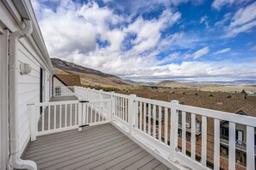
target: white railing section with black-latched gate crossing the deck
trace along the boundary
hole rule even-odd
[[[69,100],[30,104],[31,140],[84,125],[109,123],[111,100]],[[35,113],[37,111],[37,113]]]

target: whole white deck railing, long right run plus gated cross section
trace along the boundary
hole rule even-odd
[[[92,116],[92,112],[101,112],[99,117],[103,118],[102,123],[111,122],[112,124],[116,124],[120,130],[127,132],[129,137],[140,141],[140,143],[152,149],[156,155],[159,155],[160,159],[165,161],[165,164],[170,165],[171,167],[182,165],[182,167],[192,167],[193,169],[209,169],[209,167],[207,167],[207,141],[211,140],[208,138],[209,135],[207,134],[209,118],[214,120],[214,137],[212,139],[214,143],[214,169],[220,169],[220,122],[223,120],[228,121],[229,124],[228,169],[235,169],[235,125],[243,124],[247,127],[247,169],[254,169],[255,167],[254,128],[256,127],[256,118],[194,106],[184,106],[178,104],[177,100],[172,100],[171,102],[150,100],[136,97],[134,94],[116,94],[114,92],[109,93],[90,88],[73,87],[73,94],[77,95],[80,100],[90,101],[88,103],[81,103],[78,101],[72,101],[73,103],[71,103],[71,101],[66,101],[67,103],[44,103],[37,104],[34,107],[48,106],[48,110],[53,111],[53,116],[47,117],[50,118],[48,121],[50,122],[51,118],[53,118],[53,122],[55,122],[55,108],[57,106],[60,105],[59,112],[61,112],[61,106],[63,105],[76,106],[78,110],[75,110],[73,114],[77,115],[77,117],[75,117],[77,122],[75,121],[74,124],[70,123],[72,124],[70,128],[77,128],[83,124],[99,124],[100,121],[97,121],[97,118]],[[49,109],[49,106],[52,107]],[[65,112],[66,110],[68,109],[65,109]],[[72,110],[70,112],[72,112]],[[182,136],[180,139],[181,146],[178,147],[179,112],[182,114]],[[44,114],[45,113],[41,114],[42,120]],[[187,155],[188,149],[186,149],[188,146],[186,140],[186,114],[190,114],[191,118],[190,155]],[[70,114],[68,115],[70,116]],[[199,149],[201,151],[200,161],[197,161],[196,159],[196,148],[198,149],[198,146],[196,145],[196,117],[198,116],[202,118],[202,141],[201,149]],[[39,122],[41,121],[38,116],[36,118],[32,117],[32,119],[34,119],[32,120],[32,123],[37,120],[39,120]],[[61,122],[61,118],[59,118],[59,121]],[[50,123],[47,124],[47,130],[45,130],[43,124],[41,124],[41,130],[51,132],[56,129],[55,123],[53,124],[53,130],[51,129],[51,125],[49,127],[49,124]],[[35,126],[36,125],[37,123]],[[33,127],[34,126],[32,125],[32,128]],[[62,131],[69,128],[67,128],[65,124],[63,127],[60,126],[59,129]],[[38,131],[38,129],[32,131],[35,131],[36,135],[43,134],[41,131]]]

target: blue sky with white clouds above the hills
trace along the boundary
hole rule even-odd
[[[51,58],[137,82],[256,79],[255,0],[31,0]]]

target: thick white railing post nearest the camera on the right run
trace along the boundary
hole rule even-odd
[[[170,160],[176,161],[175,152],[178,149],[178,100],[171,100],[171,133],[170,133]]]

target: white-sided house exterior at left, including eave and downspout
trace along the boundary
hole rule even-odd
[[[30,1],[0,1],[0,64],[0,169],[18,168],[30,139],[27,105],[52,97],[53,65]]]

